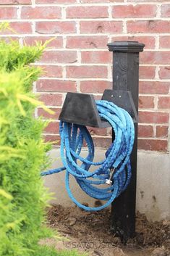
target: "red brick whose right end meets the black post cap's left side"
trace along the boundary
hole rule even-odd
[[[105,48],[107,36],[68,36],[67,48]]]

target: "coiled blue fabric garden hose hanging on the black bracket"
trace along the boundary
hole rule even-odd
[[[60,122],[61,160],[64,167],[41,173],[46,176],[66,170],[66,189],[75,204],[84,210],[102,210],[109,206],[128,186],[131,178],[130,154],[132,152],[135,129],[132,117],[126,110],[107,101],[96,101],[99,115],[114,129],[114,142],[106,151],[106,159],[93,162],[94,144],[88,129],[83,125]],[[80,156],[82,144],[88,146],[88,156]],[[80,160],[81,165],[77,164]],[[95,165],[94,171],[89,171]],[[74,176],[80,188],[90,197],[107,201],[100,207],[87,207],[77,202],[69,187],[69,176]],[[101,186],[109,184],[109,186]]]

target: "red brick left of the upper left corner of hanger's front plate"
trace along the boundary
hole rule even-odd
[[[47,106],[61,106],[62,104],[61,94],[41,94],[39,99]]]

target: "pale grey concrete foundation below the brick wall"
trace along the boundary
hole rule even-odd
[[[49,152],[52,165],[51,168],[62,166],[59,149]],[[82,152],[82,156],[87,154]],[[105,157],[105,150],[96,149],[95,161]],[[74,203],[69,199],[65,189],[65,172],[56,173],[44,177],[45,186],[54,196],[52,204],[71,206]],[[95,199],[83,193],[71,178],[70,186],[76,199],[81,203],[94,206]],[[170,220],[170,157],[169,154],[158,154],[156,152],[138,152],[137,160],[137,210],[145,213],[148,220]]]

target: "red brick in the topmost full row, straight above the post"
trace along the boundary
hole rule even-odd
[[[155,17],[156,5],[137,4],[137,5],[115,5],[112,7],[112,17]]]

